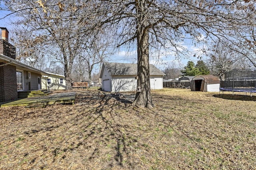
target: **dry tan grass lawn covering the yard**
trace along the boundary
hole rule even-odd
[[[75,105],[0,108],[0,169],[255,169],[256,102],[152,90],[156,107],[98,90]]]

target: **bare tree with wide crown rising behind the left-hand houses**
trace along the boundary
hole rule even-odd
[[[88,31],[92,30],[88,27],[97,23],[94,21],[96,15],[93,4],[76,0],[4,0],[4,3],[12,13],[19,16],[19,21],[15,22],[17,27],[29,35],[26,41],[20,41],[27,47],[25,51],[36,48],[43,53],[58,49],[63,59],[66,87],[71,88],[74,59],[81,53]],[[22,35],[19,38],[22,39]]]

